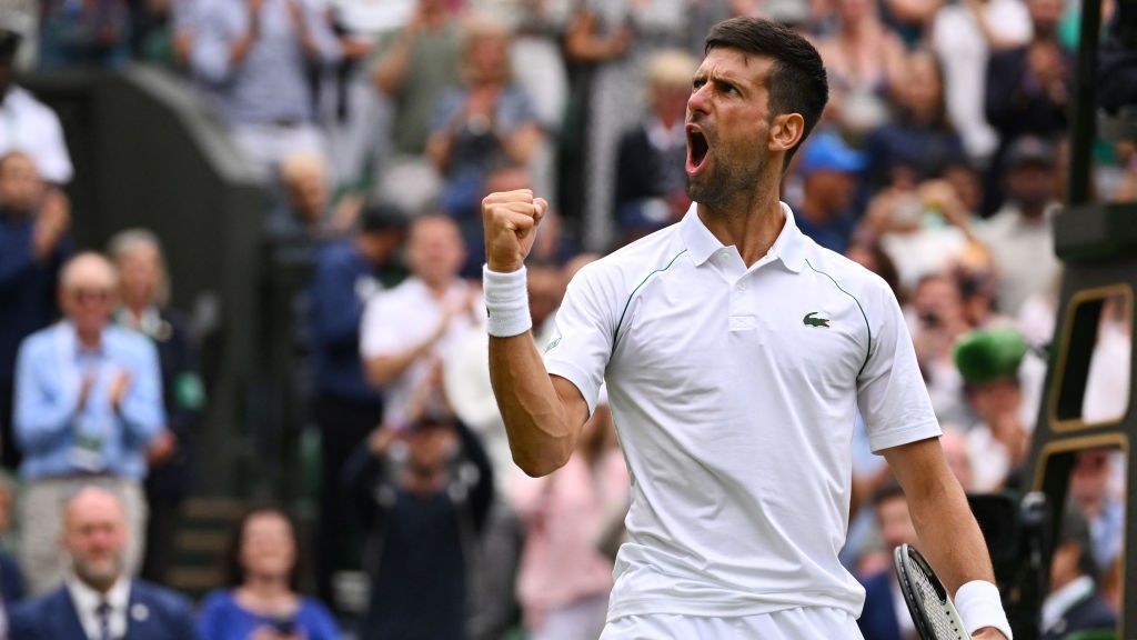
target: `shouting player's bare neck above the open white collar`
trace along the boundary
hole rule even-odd
[[[699,220],[725,246],[738,248],[750,266],[770,252],[786,224],[778,188],[760,188],[739,203],[699,204]]]

